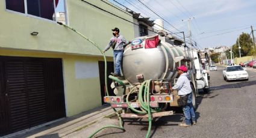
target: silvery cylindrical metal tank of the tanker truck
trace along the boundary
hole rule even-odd
[[[175,79],[178,74],[176,68],[182,64],[175,62],[175,59],[189,59],[184,47],[173,46],[162,40],[157,47],[146,49],[145,40],[141,40],[139,48],[126,47],[123,53],[122,73],[125,79],[130,83],[139,82],[136,76],[140,75],[144,80]]]

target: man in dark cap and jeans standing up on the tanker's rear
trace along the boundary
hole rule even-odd
[[[123,49],[126,45],[130,44],[130,41],[126,41],[123,35],[119,34],[119,29],[114,28],[111,29],[113,31],[113,37],[110,39],[110,42],[105,47],[103,52],[106,52],[110,47],[113,48],[113,58],[114,58],[114,73],[111,73],[113,76],[121,76],[120,75],[120,65],[123,57]]]

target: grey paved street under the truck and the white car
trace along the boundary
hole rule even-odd
[[[248,68],[249,81],[225,82],[223,67],[210,72],[211,91],[198,98],[198,124],[181,128],[182,112],[158,118],[152,125],[152,137],[256,137],[256,69]],[[117,119],[111,119],[118,125]],[[148,121],[125,120],[125,132],[108,128],[96,137],[145,137]],[[88,133],[88,131],[87,131]],[[70,137],[84,136],[85,131]],[[88,134],[86,134],[88,135]]]

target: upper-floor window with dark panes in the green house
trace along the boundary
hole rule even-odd
[[[64,0],[5,0],[6,9],[66,24]]]

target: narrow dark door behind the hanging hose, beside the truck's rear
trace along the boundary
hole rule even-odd
[[[107,62],[107,77],[108,75],[110,75],[111,72],[114,72],[114,62]],[[105,62],[104,61],[99,61],[99,80],[101,83],[101,102],[102,104],[104,103],[103,97],[106,96],[107,94],[105,94]],[[110,88],[111,79],[107,79],[108,82],[108,93],[110,95],[114,95],[113,89]]]

